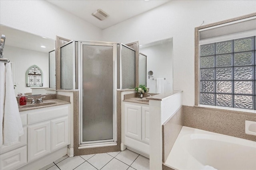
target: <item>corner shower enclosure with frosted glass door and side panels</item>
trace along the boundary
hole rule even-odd
[[[60,51],[61,89],[79,90],[79,146],[116,145],[116,92],[135,87],[134,49],[121,43],[71,41]]]

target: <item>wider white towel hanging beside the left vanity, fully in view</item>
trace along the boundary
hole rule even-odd
[[[4,100],[4,145],[12,145],[18,141],[19,137],[23,135],[22,122],[20,119],[20,112],[18,103],[14,93],[12,82],[11,64],[6,63],[6,79],[5,79],[5,100]]]

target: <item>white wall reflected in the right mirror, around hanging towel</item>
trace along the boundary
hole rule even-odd
[[[152,70],[155,80],[148,79],[147,87],[150,93],[156,93],[156,78],[164,80],[164,93],[172,92],[172,41],[150,47],[140,48],[140,52],[147,55],[147,72]]]

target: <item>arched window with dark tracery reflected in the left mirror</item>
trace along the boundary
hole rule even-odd
[[[26,71],[26,86],[27,87],[37,87],[43,86],[43,72],[42,70],[33,65]]]

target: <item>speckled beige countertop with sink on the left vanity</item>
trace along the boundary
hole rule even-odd
[[[44,105],[46,103],[55,103],[55,104],[50,104],[50,105],[45,105],[45,106],[40,106],[40,104]],[[30,102],[27,102],[26,105],[20,106],[18,104],[19,107],[19,111],[27,111],[27,110],[33,110],[33,109],[41,109],[44,107],[52,107],[52,106],[59,106],[59,105],[63,105],[63,104],[70,104],[70,102],[65,102],[63,100],[59,100],[59,99],[51,99],[51,100],[43,100],[42,103],[38,103],[38,104],[30,104]],[[29,107],[29,106],[33,106],[33,105],[39,105],[36,107]]]

